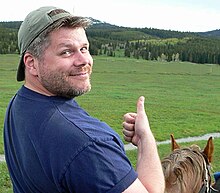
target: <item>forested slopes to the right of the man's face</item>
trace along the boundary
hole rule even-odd
[[[188,61],[220,64],[220,39],[198,33],[158,29],[113,28],[88,31],[95,55],[116,56],[158,61]],[[103,38],[103,39],[102,39]]]

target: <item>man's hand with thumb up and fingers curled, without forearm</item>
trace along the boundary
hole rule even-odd
[[[137,113],[124,115],[123,134],[127,142],[138,145],[141,139],[145,138],[150,130],[148,118],[144,108],[145,98],[141,96],[137,101]]]

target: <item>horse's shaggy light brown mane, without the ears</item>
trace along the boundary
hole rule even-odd
[[[199,146],[175,149],[162,160],[166,193],[198,193],[204,182],[207,168]]]

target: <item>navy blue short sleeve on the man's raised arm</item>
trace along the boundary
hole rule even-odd
[[[124,150],[113,140],[88,144],[62,177],[65,192],[121,193],[137,178]]]

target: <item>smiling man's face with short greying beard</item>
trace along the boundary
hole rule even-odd
[[[72,98],[91,89],[93,59],[83,28],[60,28],[39,63],[39,81],[50,93]]]

